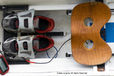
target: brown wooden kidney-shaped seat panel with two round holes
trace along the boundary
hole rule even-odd
[[[92,26],[85,26],[86,18],[93,20]],[[110,9],[100,2],[79,4],[73,9],[71,18],[72,53],[74,59],[84,65],[98,65],[108,61],[112,55],[110,47],[102,40],[100,30],[111,17]],[[93,47],[84,46],[86,40],[93,41]]]

